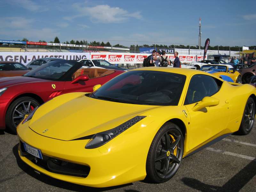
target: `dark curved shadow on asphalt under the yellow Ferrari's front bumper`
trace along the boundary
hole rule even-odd
[[[48,185],[52,185],[52,186],[55,186],[55,187],[58,187],[58,188],[68,189],[68,190],[72,190],[72,191],[77,191],[77,192],[82,192],[82,191],[83,192],[84,191],[90,191],[90,192],[107,191],[107,190],[111,190],[111,189],[122,188],[122,187],[125,187],[125,186],[132,185],[132,183],[130,183],[130,184],[119,185],[119,186],[108,187],[108,188],[92,188],[92,187],[86,187],[86,186],[83,186],[83,185],[77,185],[77,184],[74,184],[74,183],[69,183],[69,182],[62,181],[62,180],[57,180],[57,179],[54,179],[54,178],[49,177],[47,175],[44,175],[43,173],[38,174],[34,171],[33,168],[31,168],[30,166],[25,164],[20,159],[20,156],[19,156],[19,153],[18,153],[18,146],[19,146],[19,143],[12,148],[12,152],[13,152],[14,156],[16,157],[16,161],[17,161],[17,164],[20,167],[20,169],[22,169],[22,171],[26,172],[31,177],[33,177],[33,178],[35,178],[35,179],[37,179],[37,180],[39,180],[43,183],[46,183]],[[139,192],[139,191],[136,191],[136,190],[124,190],[124,191],[126,191],[126,192]]]

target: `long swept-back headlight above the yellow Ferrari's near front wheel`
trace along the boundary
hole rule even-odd
[[[96,133],[95,135],[93,135],[92,139],[86,144],[85,148],[93,149],[93,148],[97,148],[104,145],[105,143],[107,143],[108,141],[110,141],[120,133],[124,132],[126,129],[128,129],[132,125],[138,123],[141,119],[145,117],[146,116],[136,116],[113,129]]]

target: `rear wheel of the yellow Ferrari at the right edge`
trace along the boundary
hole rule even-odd
[[[255,117],[255,102],[251,97],[249,97],[246,102],[242,121],[238,130],[239,134],[247,135],[252,131],[252,127],[254,124],[254,117]]]

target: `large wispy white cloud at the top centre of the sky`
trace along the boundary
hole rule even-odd
[[[79,3],[72,5],[80,14],[64,17],[65,20],[73,20],[77,17],[89,17],[92,22],[99,23],[120,23],[130,18],[141,19],[140,12],[128,12],[119,7],[109,5],[97,5],[86,7]]]

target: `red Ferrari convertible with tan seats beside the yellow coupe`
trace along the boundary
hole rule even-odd
[[[124,71],[81,68],[76,61],[46,63],[23,76],[0,77],[0,130],[16,133],[17,125],[34,108],[69,92],[92,92]]]

